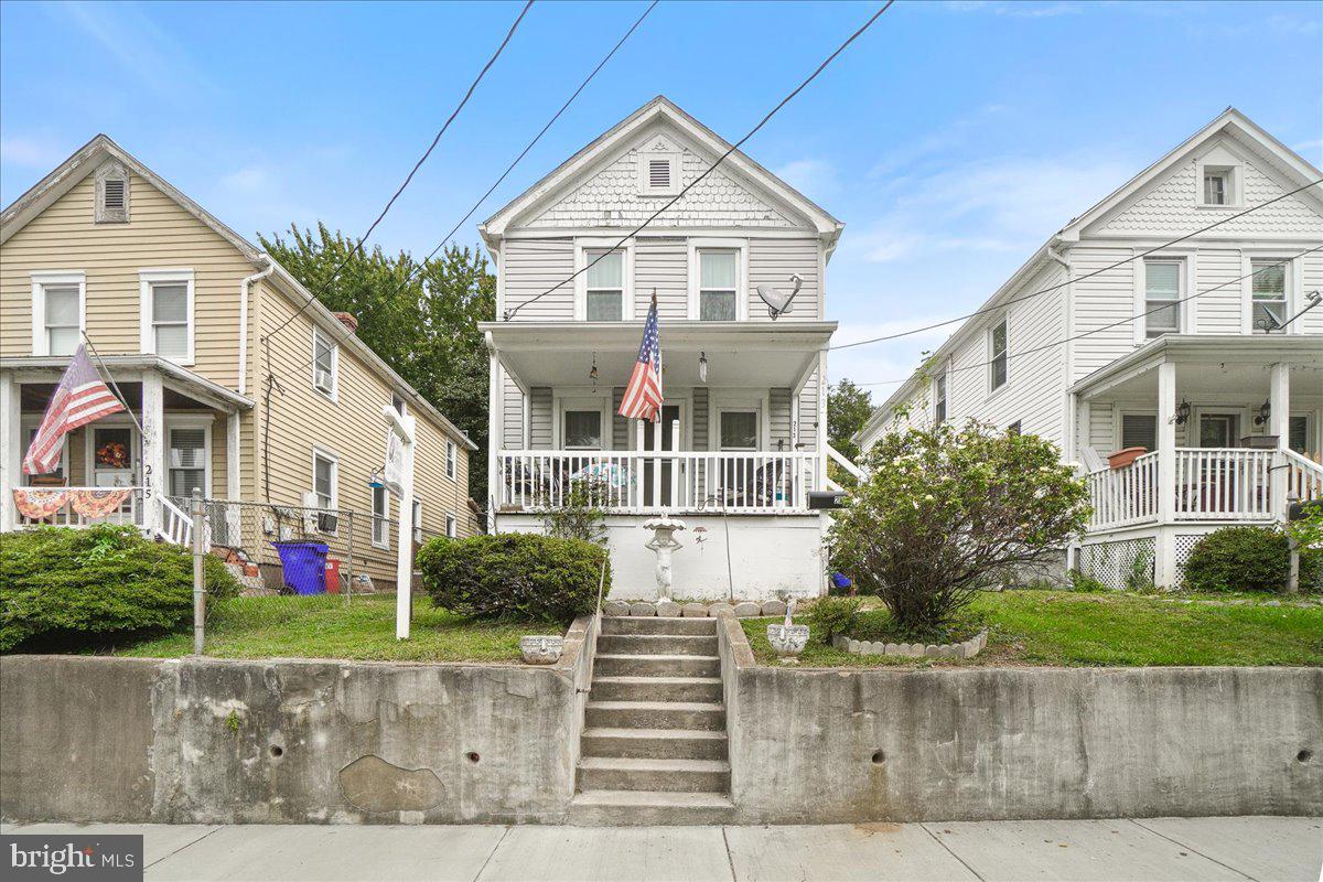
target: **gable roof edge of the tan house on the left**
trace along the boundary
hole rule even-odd
[[[340,320],[332,315],[331,309],[328,309],[321,300],[303,287],[303,284],[295,279],[288,270],[280,266],[275,258],[226,226],[220,218],[191,200],[181,190],[176,189],[164,177],[147,168],[138,160],[138,157],[116,144],[107,135],[97,135],[90,141],[79,147],[74,151],[73,156],[61,163],[56,171],[37,181],[28,189],[26,193],[9,204],[4,212],[0,212],[0,245],[8,242],[11,237],[19,233],[19,230],[26,226],[33,218],[38,217],[50,205],[58,201],[60,197],[71,190],[108,159],[123,163],[124,167],[134,175],[142,177],[157,190],[168,196],[180,208],[233,245],[239,254],[253,263],[254,267],[265,268],[267,266],[274,266],[275,272],[273,272],[270,280],[275,283],[273,284],[275,290],[280,291],[298,305],[303,305],[304,301],[311,301],[308,312],[318,324],[336,331],[339,335],[337,339],[356,356],[359,356],[359,358],[361,358],[372,370],[377,372],[390,385],[410,394],[415,402],[422,405],[422,409],[438,424],[456,435],[468,450],[478,450],[478,446],[474,444],[463,430],[450,422],[450,419],[447,419],[435,405],[423,398],[418,390],[405,382],[404,377],[397,374],[390,365],[382,361],[381,356],[378,356],[372,346],[364,342],[357,335],[340,333],[344,329]]]

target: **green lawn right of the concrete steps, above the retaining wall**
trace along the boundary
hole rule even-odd
[[[1076,591],[983,594],[970,618],[987,624],[988,645],[974,659],[856,656],[811,636],[799,665],[1323,665],[1323,606],[1310,600],[1302,606],[1266,606],[1278,599]],[[877,627],[888,612],[875,610],[864,616]],[[761,664],[778,664],[767,645],[769,621],[773,619],[745,619],[745,633]]]

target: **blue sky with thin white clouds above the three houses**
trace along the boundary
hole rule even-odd
[[[537,3],[373,241],[431,250],[643,5]],[[460,239],[656,94],[738,139],[873,8],[663,1]],[[359,234],[517,9],[3,3],[0,201],[106,132],[250,238]],[[745,149],[845,222],[849,341],[976,308],[1229,104],[1323,164],[1320,48],[1320,3],[898,3]],[[832,374],[904,377],[949,331]]]

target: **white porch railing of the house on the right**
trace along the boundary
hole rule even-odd
[[[1174,521],[1270,521],[1285,512],[1282,493],[1323,499],[1323,465],[1294,451],[1177,448],[1172,465]],[[1274,480],[1277,472],[1282,472],[1279,480]],[[1159,520],[1156,452],[1123,468],[1090,472],[1085,480],[1093,504],[1089,529]]]

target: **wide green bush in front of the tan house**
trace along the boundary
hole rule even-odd
[[[238,594],[206,558],[213,598]],[[193,620],[193,555],[131,526],[42,528],[0,534],[0,652],[86,648],[176,631]]]

